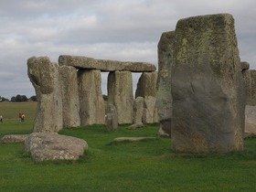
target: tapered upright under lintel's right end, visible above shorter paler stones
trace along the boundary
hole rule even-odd
[[[153,96],[156,92],[156,80],[157,72],[143,72],[138,83],[135,92],[135,98]]]

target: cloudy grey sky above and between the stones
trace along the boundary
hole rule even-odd
[[[0,96],[30,97],[27,59],[59,55],[144,61],[157,67],[161,34],[185,17],[229,13],[241,61],[256,69],[255,0],[0,0]],[[107,94],[107,73],[101,73]],[[133,75],[133,91],[140,74]]]

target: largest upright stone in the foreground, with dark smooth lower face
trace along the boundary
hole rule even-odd
[[[245,104],[233,17],[179,20],[173,56],[173,149],[243,149]]]

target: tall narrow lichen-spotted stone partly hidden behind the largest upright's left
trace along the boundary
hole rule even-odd
[[[156,83],[156,106],[158,109],[159,132],[171,134],[172,93],[171,69],[175,31],[162,34],[158,43],[158,77]]]

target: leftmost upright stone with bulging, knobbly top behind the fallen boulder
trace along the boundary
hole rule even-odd
[[[37,93],[34,132],[59,132],[63,124],[59,66],[47,57],[33,57],[27,59],[27,74]]]

